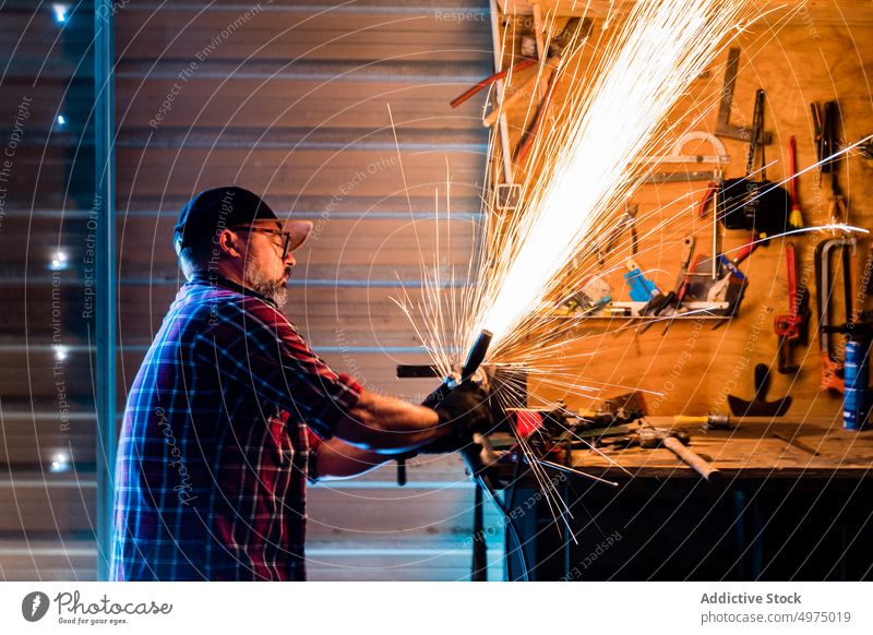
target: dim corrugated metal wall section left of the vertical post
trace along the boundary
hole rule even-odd
[[[93,21],[0,5],[0,579],[95,575]]]

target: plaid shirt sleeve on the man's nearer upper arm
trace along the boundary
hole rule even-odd
[[[220,302],[201,335],[207,354],[222,356],[225,380],[253,391],[302,420],[324,440],[355,407],[361,385],[337,374],[277,309],[253,297]]]

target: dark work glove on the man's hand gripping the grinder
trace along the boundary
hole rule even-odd
[[[440,424],[451,428],[445,436],[418,448],[420,454],[447,454],[473,443],[475,432],[488,432],[493,427],[491,408],[488,405],[488,393],[473,382],[452,388],[436,404],[424,404],[432,407],[440,417]]]

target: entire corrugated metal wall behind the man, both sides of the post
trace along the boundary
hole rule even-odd
[[[65,136],[47,132],[60,104],[81,110],[92,97],[88,63],[74,81],[69,77],[74,56],[87,49],[93,16],[80,10],[69,21],[60,55],[48,44],[59,24],[36,5],[4,5],[0,26],[17,73],[12,77],[22,86],[49,60],[33,106],[40,128],[27,131],[33,148],[15,171],[20,206],[27,211],[8,213],[2,228],[0,289],[7,305],[21,311],[4,311],[9,345],[0,349],[12,466],[9,482],[0,483],[0,505],[9,511],[0,519],[5,532],[0,575],[45,578],[51,570],[50,575],[87,578],[94,575],[93,371],[87,323],[73,317],[86,300],[93,159],[91,166],[83,159],[93,151],[88,140],[79,144],[81,130],[74,127]],[[219,0],[117,7],[119,407],[180,284],[170,247],[178,209],[195,192],[226,183],[263,192],[274,208],[316,223],[298,259],[287,307],[315,350],[371,390],[409,397],[430,390],[432,381],[394,379],[396,363],[426,360],[392,298],[399,297],[398,280],[412,299],[420,293],[419,256],[431,261],[438,235],[443,249],[436,266],[444,272],[462,265],[458,276],[466,275],[475,249],[487,134],[478,119],[480,103],[457,112],[447,103],[491,71],[487,2],[332,7]],[[15,44],[20,33],[27,35],[26,56]],[[2,85],[5,129],[14,119],[5,98],[8,76]],[[87,113],[84,109],[82,121]],[[82,171],[72,173],[73,165]],[[451,215],[438,224],[434,212],[439,206],[444,214],[447,179]],[[59,243],[74,265],[61,273],[61,295],[69,317],[63,344],[71,347],[64,378],[76,402],[74,424],[61,432],[52,375],[52,278],[45,271],[47,252],[50,256]],[[35,267],[43,267],[38,275]],[[32,334],[29,350],[21,346],[22,327]],[[45,450],[64,445],[74,452],[75,471],[48,476],[59,482],[47,488]],[[388,468],[313,488],[312,578],[467,575],[464,539],[473,520],[473,490],[456,457],[410,466],[406,489],[394,488],[393,479]],[[15,510],[29,516],[20,519]],[[25,540],[38,532],[49,549],[41,561],[27,555]],[[50,550],[70,539],[79,539],[77,551],[61,565]]]

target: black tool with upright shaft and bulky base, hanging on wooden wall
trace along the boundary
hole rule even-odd
[[[764,89],[758,88],[752,116],[745,177],[725,181],[719,196],[719,217],[727,229],[754,229],[767,236],[777,236],[788,228],[791,201],[785,188],[767,180],[767,159],[764,145],[760,143],[764,130],[765,97]],[[761,178],[753,180],[752,172],[758,148],[762,160]]]

